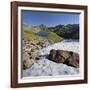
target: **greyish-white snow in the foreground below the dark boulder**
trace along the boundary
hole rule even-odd
[[[78,73],[78,68],[73,68],[65,64],[57,64],[48,59],[42,59],[34,63],[31,68],[25,70],[23,76],[75,75]]]

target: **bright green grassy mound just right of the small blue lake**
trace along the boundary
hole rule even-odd
[[[50,40],[53,40],[54,42],[59,42],[59,41],[62,41],[63,40],[62,37],[58,36],[54,32],[48,32],[47,38],[50,39]]]

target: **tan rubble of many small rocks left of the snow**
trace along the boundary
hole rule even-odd
[[[40,59],[39,50],[49,45],[48,40],[25,40],[23,39],[23,69],[30,68]]]

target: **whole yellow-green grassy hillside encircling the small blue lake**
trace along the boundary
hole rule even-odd
[[[37,35],[38,32],[47,32],[47,36]],[[59,42],[63,40],[62,37],[57,35],[55,32],[48,31],[47,28],[42,27],[29,27],[28,25],[23,24],[23,38],[30,40],[30,39],[37,39],[37,40],[43,40],[48,39],[53,42]]]

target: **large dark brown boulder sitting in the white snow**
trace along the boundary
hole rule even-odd
[[[56,63],[63,63],[72,67],[79,67],[79,54],[72,51],[54,50],[50,51],[48,59]]]

